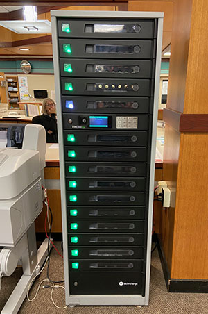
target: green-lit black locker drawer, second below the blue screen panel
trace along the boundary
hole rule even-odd
[[[64,147],[65,160],[76,161],[133,161],[146,162],[146,147]]]

